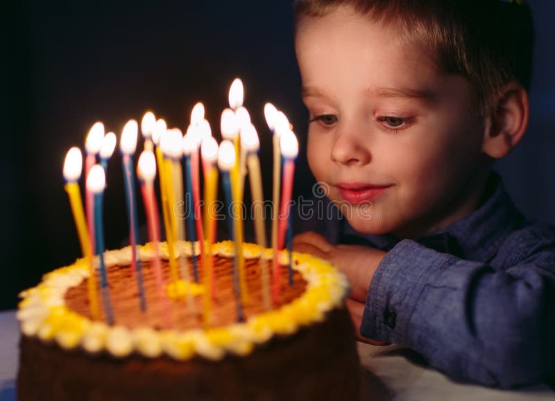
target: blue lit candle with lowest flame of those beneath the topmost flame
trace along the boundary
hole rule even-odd
[[[221,171],[223,192],[225,193],[225,201],[228,203],[228,217],[231,239],[234,241],[235,245],[235,256],[233,264],[233,295],[235,297],[235,308],[237,313],[237,321],[244,321],[245,317],[243,314],[243,301],[241,300],[241,289],[239,286],[239,249],[237,248],[237,238],[236,230],[237,225],[233,223],[234,216],[232,211],[232,188],[230,182],[230,172],[235,166],[235,148],[231,141],[224,140],[220,144],[218,152],[218,167]]]

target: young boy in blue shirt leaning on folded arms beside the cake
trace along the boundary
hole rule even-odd
[[[307,157],[344,222],[296,249],[348,276],[359,339],[504,388],[555,377],[555,230],[491,172],[527,129],[531,30],[522,1],[296,1]]]

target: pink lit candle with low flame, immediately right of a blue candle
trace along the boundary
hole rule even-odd
[[[156,161],[153,152],[144,150],[139,157],[137,165],[137,175],[141,181],[141,192],[144,202],[144,210],[146,213],[146,222],[148,227],[148,238],[154,250],[153,269],[158,292],[158,301],[160,308],[164,314],[164,321],[169,327],[169,307],[167,298],[164,293],[164,277],[162,276],[162,264],[160,262],[160,217],[158,215],[158,207],[156,204],[156,196],[154,194],[154,178],[156,176]]]

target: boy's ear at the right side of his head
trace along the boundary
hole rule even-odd
[[[520,142],[528,127],[529,98],[518,82],[509,82],[488,118],[482,151],[493,159],[505,157]]]

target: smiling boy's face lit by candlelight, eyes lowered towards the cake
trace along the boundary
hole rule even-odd
[[[302,19],[296,52],[314,176],[357,231],[407,238],[468,215],[488,162],[470,84],[401,37],[339,8]]]

